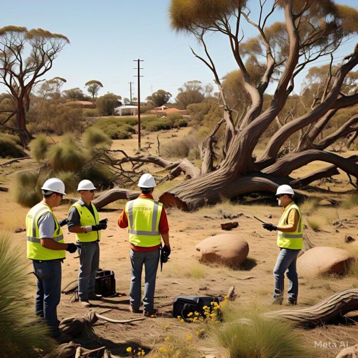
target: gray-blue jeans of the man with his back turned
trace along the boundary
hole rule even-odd
[[[143,307],[145,311],[154,308],[155,279],[159,262],[159,249],[154,251],[137,251],[131,249],[132,265],[131,288],[129,292],[130,304],[134,310],[138,310],[141,299],[141,274],[143,265],[145,267],[145,284]]]

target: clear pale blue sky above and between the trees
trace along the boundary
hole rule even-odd
[[[355,0],[338,2],[357,7]],[[159,88],[175,97],[177,88],[185,81],[212,83],[213,76],[190,51],[189,46],[192,46],[198,53],[201,52],[195,39],[171,30],[169,4],[169,0],[4,1],[0,27],[41,27],[66,35],[71,44],[65,47],[45,76],[46,79],[64,77],[67,83],[63,89],[80,87],[85,91],[84,83],[96,79],[104,86],[100,95],[113,92],[129,97],[128,82],[132,81],[135,82],[136,97],[137,78],[133,77],[136,75],[136,63],[133,59],[140,58],[145,60],[141,62],[144,68],[141,70],[144,75],[141,78],[141,100]],[[252,14],[255,16],[254,6]],[[272,17],[272,22],[282,20],[280,12]],[[244,26],[243,29],[246,37],[256,35],[252,26]],[[355,42],[358,40],[344,45],[336,56],[349,53]],[[220,76],[237,68],[225,37],[211,35],[208,48]],[[319,64],[326,62],[329,59]],[[302,80],[303,75],[305,72],[297,82]],[[271,86],[269,90],[273,91],[273,88]]]

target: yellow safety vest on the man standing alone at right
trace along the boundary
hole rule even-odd
[[[289,204],[283,211],[281,219],[278,223],[279,226],[287,225],[287,221],[289,218],[289,213],[291,209],[296,209],[299,215],[299,221],[296,227],[296,231],[293,232],[282,232],[277,231],[277,246],[283,248],[291,248],[295,250],[299,250],[303,246],[303,227],[302,227],[302,214],[299,207],[292,202]]]

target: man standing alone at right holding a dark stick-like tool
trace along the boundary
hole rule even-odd
[[[278,205],[283,207],[281,219],[277,226],[269,223],[262,224],[266,230],[277,230],[277,246],[280,248],[280,254],[274,268],[275,291],[272,302],[274,305],[282,304],[285,272],[287,272],[287,278],[289,279],[289,304],[297,304],[298,277],[296,261],[303,245],[303,225],[301,211],[293,201],[294,194],[289,185],[279,186],[276,198]]]

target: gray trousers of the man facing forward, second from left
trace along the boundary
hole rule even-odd
[[[96,273],[99,267],[99,244],[93,242],[78,242],[80,255],[80,270],[78,271],[78,296],[81,300],[88,299],[88,293],[95,291]]]

